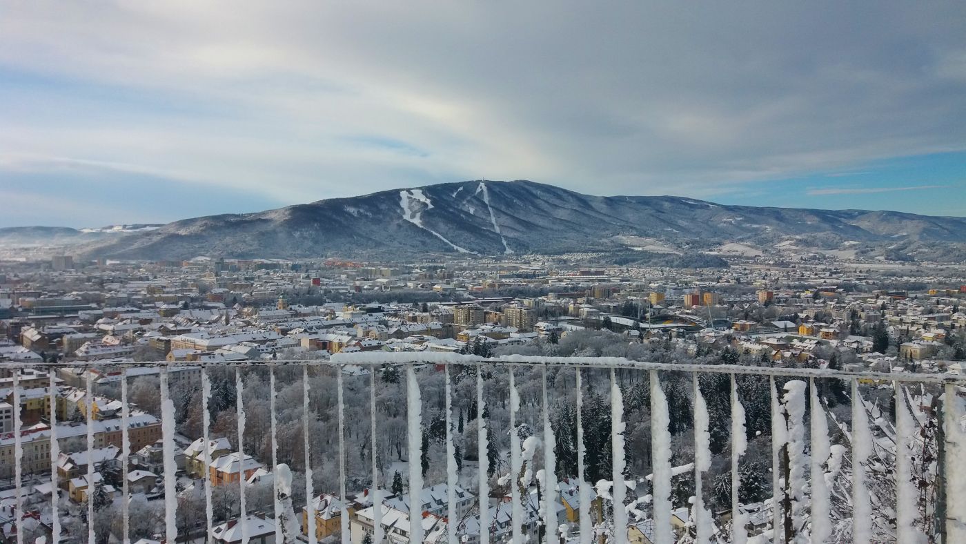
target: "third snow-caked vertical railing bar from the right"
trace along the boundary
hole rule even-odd
[[[852,541],[872,541],[872,503],[866,485],[866,465],[872,455],[865,401],[859,382],[852,380]]]

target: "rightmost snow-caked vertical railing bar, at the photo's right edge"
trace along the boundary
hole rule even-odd
[[[963,400],[958,386],[946,384],[943,392],[943,432],[946,434],[946,538],[966,542],[966,433],[963,432]]]

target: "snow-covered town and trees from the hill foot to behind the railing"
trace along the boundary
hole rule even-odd
[[[3,263],[0,541],[904,542],[960,507],[961,269],[577,260]]]

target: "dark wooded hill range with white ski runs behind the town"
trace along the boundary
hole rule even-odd
[[[75,252],[86,257],[147,260],[574,252],[669,266],[771,252],[966,260],[963,217],[724,206],[675,196],[590,196],[527,181],[385,190],[257,214],[128,227],[120,233],[0,229],[0,243],[73,237],[82,243]]]

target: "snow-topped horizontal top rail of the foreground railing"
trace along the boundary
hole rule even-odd
[[[369,352],[355,354],[336,354],[329,359],[267,359],[242,361],[71,361],[62,363],[49,362],[9,362],[0,366],[14,368],[143,368],[143,367],[218,367],[218,366],[344,366],[344,365],[379,365],[379,364],[497,364],[521,366],[558,366],[581,368],[621,368],[637,370],[658,370],[667,372],[700,372],[718,374],[747,374],[761,376],[785,376],[795,378],[838,378],[842,380],[875,380],[912,383],[957,383],[966,385],[966,375],[949,373],[915,373],[915,372],[866,372],[829,370],[821,368],[799,368],[790,366],[746,366],[736,364],[692,364],[668,363],[631,360],[612,357],[532,357],[532,356],[504,356],[498,358],[481,358],[478,356],[459,355],[450,353],[419,353],[419,352]]]

